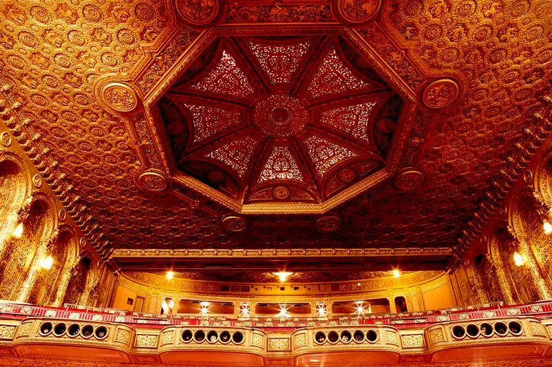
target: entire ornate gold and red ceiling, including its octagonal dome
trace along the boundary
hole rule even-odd
[[[445,268],[517,177],[552,75],[550,1],[0,12],[0,117],[132,270]]]

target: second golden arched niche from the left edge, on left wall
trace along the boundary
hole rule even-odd
[[[21,238],[10,237],[0,259],[0,298],[14,299],[23,281],[27,279],[29,266],[41,241],[50,233],[53,225],[46,201],[32,201],[29,214],[23,220]]]

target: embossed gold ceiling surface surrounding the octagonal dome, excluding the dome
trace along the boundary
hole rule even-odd
[[[345,19],[351,31],[335,27],[343,14],[325,1],[233,2],[217,18],[228,28],[243,27],[244,35],[254,36],[266,30],[250,23],[277,22],[292,25],[280,33],[295,34],[299,23],[319,23],[327,29],[314,34],[351,32],[353,47],[378,55],[366,56],[368,63],[385,63],[399,79],[382,75],[402,98],[416,96],[420,106],[451,104],[437,113],[413,106],[402,112],[410,112],[412,126],[389,153],[395,157],[404,149],[393,161],[397,178],[335,206],[328,213],[339,219],[333,232],[320,230],[319,215],[243,215],[246,229],[232,232],[221,225],[232,210],[162,175],[168,158],[157,148],[168,143],[152,137],[159,132],[140,104],[156,99],[159,87],[172,82],[167,73],[175,64],[176,74],[182,72],[177,68],[188,68],[181,63],[184,52],[189,50],[190,59],[201,57],[199,49],[215,34],[175,26],[180,18],[172,2],[119,5],[0,4],[1,94],[15,118],[6,124],[26,134],[26,149],[33,148],[50,168],[62,202],[103,253],[152,244],[160,249],[455,248],[466,223],[488,200],[491,181],[507,187],[500,169],[520,131],[531,127],[528,121],[551,81],[549,1],[384,1],[375,22]],[[262,55],[258,63],[263,64]],[[453,83],[431,84],[435,79]],[[99,81],[109,88],[95,92]],[[451,101],[455,94],[460,99]],[[139,176],[144,166],[153,170]],[[160,194],[144,193],[137,184]],[[176,199],[163,191],[166,186]]]

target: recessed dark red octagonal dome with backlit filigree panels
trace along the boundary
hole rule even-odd
[[[383,177],[402,105],[344,38],[317,35],[219,37],[157,103],[183,175],[236,206],[311,208]]]

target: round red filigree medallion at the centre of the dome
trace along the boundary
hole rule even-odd
[[[253,122],[269,137],[293,137],[308,123],[306,103],[285,94],[270,95],[253,108]]]

